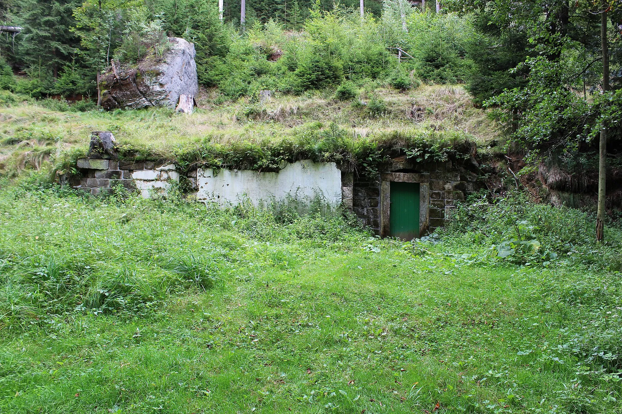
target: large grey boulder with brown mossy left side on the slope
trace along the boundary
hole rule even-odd
[[[169,37],[168,51],[159,58],[150,55],[135,66],[113,63],[101,79],[101,106],[107,110],[175,108],[181,97],[178,110],[192,112],[198,93],[195,55],[193,43]]]

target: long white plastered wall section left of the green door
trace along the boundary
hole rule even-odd
[[[319,196],[327,204],[341,204],[341,171],[335,163],[296,161],[287,164],[279,173],[198,169],[197,184],[198,200],[220,205],[237,205],[248,199],[258,206],[270,200],[285,200],[288,196],[302,202]]]

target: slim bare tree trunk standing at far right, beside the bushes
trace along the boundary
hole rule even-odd
[[[608,5],[605,3],[605,7]],[[609,91],[609,50],[607,46],[607,12],[600,14],[600,45],[603,53],[603,94]],[[600,155],[598,157],[598,216],[596,218],[596,241],[603,241],[605,235],[605,201],[607,177],[607,125],[603,122],[600,130]]]

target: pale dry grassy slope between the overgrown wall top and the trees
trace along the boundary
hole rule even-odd
[[[166,109],[70,112],[62,102],[21,101],[12,94],[0,101],[0,171],[9,175],[83,155],[94,130],[111,131],[119,144],[156,158],[174,158],[175,149],[195,143],[274,142],[329,125],[354,140],[416,133],[423,139],[460,137],[485,146],[498,136],[462,86],[422,86],[409,93],[363,90],[345,102],[320,93],[228,104],[219,104],[218,94],[207,90],[192,115]]]

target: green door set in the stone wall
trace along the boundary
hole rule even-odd
[[[389,235],[402,240],[419,237],[419,182],[391,182]]]

